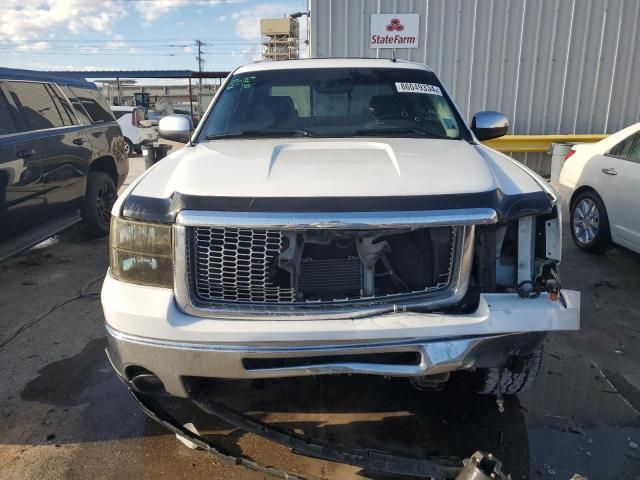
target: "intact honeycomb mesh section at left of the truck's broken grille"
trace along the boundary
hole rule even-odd
[[[269,278],[285,237],[278,230],[195,227],[193,285],[201,301],[285,303],[291,288]]]

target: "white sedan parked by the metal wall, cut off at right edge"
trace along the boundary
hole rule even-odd
[[[640,123],[575,145],[559,189],[580,248],[601,251],[613,241],[640,253]]]

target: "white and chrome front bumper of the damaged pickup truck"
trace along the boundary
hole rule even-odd
[[[127,381],[143,367],[166,391],[188,396],[184,379],[340,373],[413,377],[504,364],[548,331],[577,330],[580,294],[484,294],[465,315],[397,312],[349,320],[227,320],[187,315],[169,289],[107,275],[102,304],[111,361]],[[396,359],[401,359],[397,360]]]

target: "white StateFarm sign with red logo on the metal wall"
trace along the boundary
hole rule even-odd
[[[371,48],[418,48],[420,15],[371,15]]]

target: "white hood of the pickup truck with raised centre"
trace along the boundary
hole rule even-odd
[[[539,192],[535,174],[482,145],[435,139],[225,139],[184,147],[138,197],[399,197]]]

